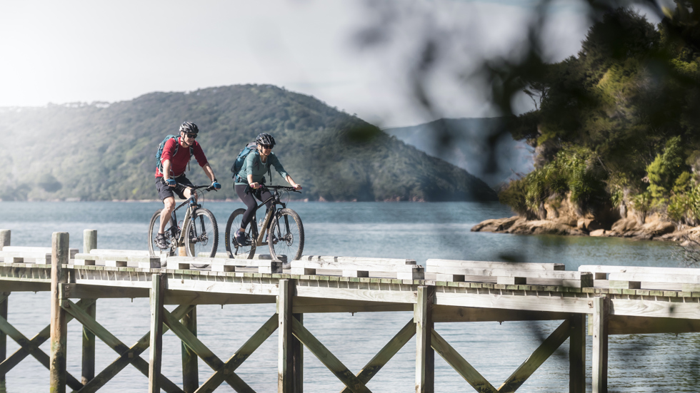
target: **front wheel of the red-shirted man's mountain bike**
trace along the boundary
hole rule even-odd
[[[185,228],[185,250],[188,257],[214,257],[219,246],[219,228],[209,210],[194,210]],[[194,267],[209,265],[192,264]]]

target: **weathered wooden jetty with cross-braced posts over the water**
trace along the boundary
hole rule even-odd
[[[566,271],[556,263],[458,260],[428,260],[423,267],[415,260],[326,256],[284,264],[224,255],[161,259],[146,251],[98,249],[94,230],[85,230],[83,252],[76,251],[69,248],[68,233],[54,233],[51,247],[13,247],[10,231],[0,230],[1,379],[31,355],[50,370],[50,392],[66,392],[66,387],[95,392],[129,364],[149,378],[149,392],[212,392],[221,384],[253,392],[236,369],[278,330],[278,392],[303,392],[303,347],[345,385],[342,392],[370,392],[369,380],[411,340],[416,392],[434,392],[435,353],[477,392],[515,392],[569,339],[569,392],[583,393],[588,320],[592,391],[601,393],[607,391],[609,335],[700,331],[696,269],[589,265]],[[211,270],[191,269],[191,264],[211,265]],[[31,339],[7,318],[9,295],[18,291],[51,292],[51,325]],[[150,330],[131,346],[95,319],[97,300],[118,297],[150,299]],[[276,312],[229,358],[217,356],[197,338],[197,305],[255,303],[276,303]],[[177,307],[169,312],[164,305]],[[414,317],[355,371],[304,327],[307,313],[391,311],[413,311]],[[66,372],[70,320],[83,325],[80,376]],[[562,322],[498,385],[434,330],[434,324],[444,322],[524,320]],[[184,343],[182,388],[161,374],[161,337],[167,330]],[[20,345],[9,356],[6,337]],[[114,362],[101,371],[95,369],[95,337],[116,352]],[[39,349],[46,340],[51,340],[49,354]],[[211,367],[201,384],[197,357]]]

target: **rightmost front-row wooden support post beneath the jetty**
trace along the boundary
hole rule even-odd
[[[608,317],[610,299],[593,300],[593,393],[608,392]]]

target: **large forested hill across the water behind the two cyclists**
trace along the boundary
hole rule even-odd
[[[0,198],[154,199],[154,154],[182,121],[223,184],[207,198],[236,198],[231,164],[261,132],[310,200],[496,200],[483,181],[355,116],[275,86],[149,93],[132,101],[0,108]],[[188,177],[204,183],[196,161]],[[285,183],[273,173],[274,183]],[[285,183],[286,184],[286,183]]]

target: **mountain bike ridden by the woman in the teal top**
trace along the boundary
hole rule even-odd
[[[273,191],[272,196],[261,202],[255,208],[256,212],[262,208],[270,200],[272,201],[271,208],[267,210],[264,220],[261,221],[258,228],[256,215],[253,214],[250,223],[246,229],[246,241],[244,244],[239,244],[234,239],[236,230],[241,228],[241,220],[246,209],[236,209],[231,213],[229,220],[226,222],[226,252],[229,258],[236,256],[252,259],[255,255],[256,247],[268,245],[272,259],[280,261],[280,257],[285,255],[287,262],[298,260],[301,257],[301,252],[304,250],[304,225],[301,224],[301,218],[294,210],[286,208],[286,203],[280,200],[280,191],[294,191],[294,187],[286,185],[263,185],[263,189]],[[277,208],[281,205],[281,208]],[[267,235],[267,236],[265,236]]]

